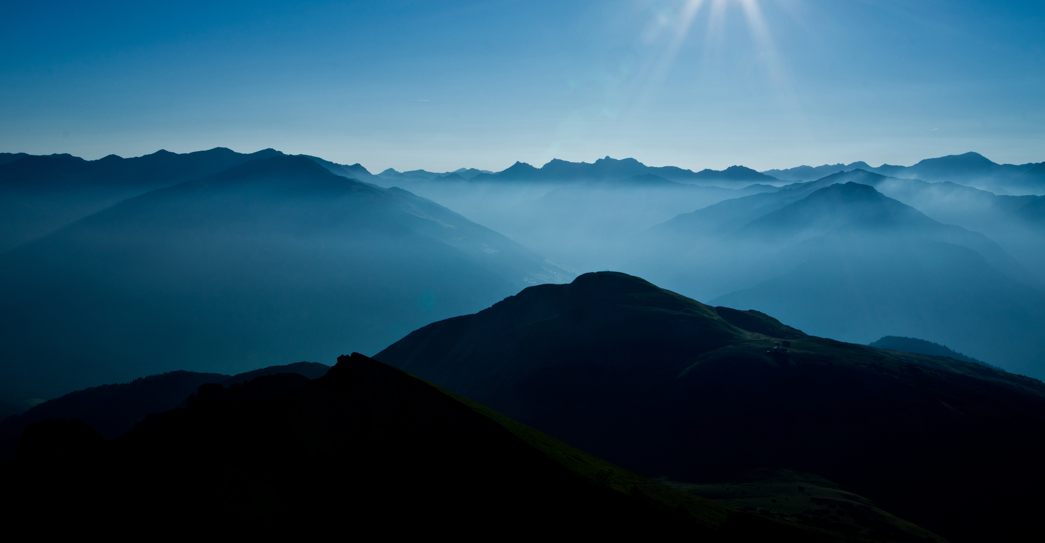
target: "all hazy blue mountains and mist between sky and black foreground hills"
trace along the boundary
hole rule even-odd
[[[1015,171],[976,157],[893,170]],[[979,169],[962,170],[970,161]],[[161,371],[329,357],[345,341],[373,353],[524,286],[608,268],[820,335],[922,337],[1045,375],[1043,196],[608,157],[376,175],[273,149],[3,162],[0,204],[26,210],[2,220],[3,242],[20,245],[0,255],[10,404]],[[100,209],[157,187],[170,188]]]

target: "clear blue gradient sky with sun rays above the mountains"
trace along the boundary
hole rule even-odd
[[[1045,160],[1045,2],[3,2],[0,151]]]

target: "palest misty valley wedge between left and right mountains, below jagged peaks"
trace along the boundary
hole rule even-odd
[[[776,190],[751,182],[738,189],[679,183],[653,173],[623,179],[601,179],[591,173],[584,181],[585,168],[593,165],[563,164],[560,169],[573,175],[564,181],[539,178],[532,183],[482,182],[477,175],[472,181],[439,178],[388,183],[398,183],[576,269],[616,265],[622,240],[679,213],[726,198]],[[634,171],[645,171],[645,166],[634,164],[638,165]],[[614,171],[603,164],[600,168]]]

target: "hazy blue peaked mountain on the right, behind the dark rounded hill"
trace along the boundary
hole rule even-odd
[[[870,186],[883,183],[855,170],[679,215],[641,238],[629,269],[825,336],[928,337],[1041,375],[1040,275]]]

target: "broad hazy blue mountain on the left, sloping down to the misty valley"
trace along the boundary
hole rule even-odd
[[[304,157],[148,192],[0,256],[0,382],[54,398],[173,369],[376,352],[566,281],[510,239]]]

